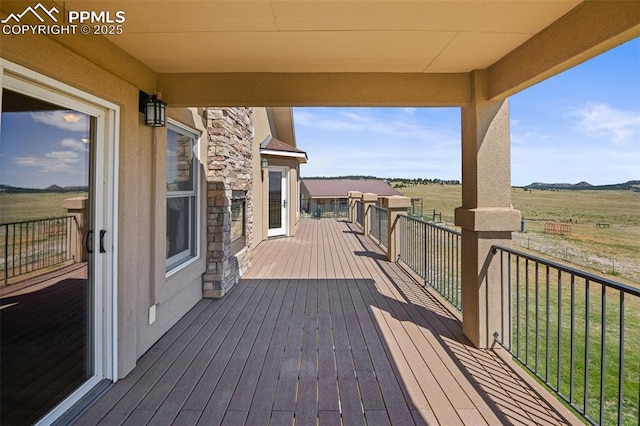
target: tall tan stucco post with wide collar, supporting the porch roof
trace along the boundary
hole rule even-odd
[[[472,72],[471,79],[472,101],[462,107],[462,206],[455,223],[462,228],[462,330],[486,348],[501,331],[502,308],[507,312],[509,303],[491,247],[511,245],[520,212],[511,207],[508,100],[487,100],[484,71]]]

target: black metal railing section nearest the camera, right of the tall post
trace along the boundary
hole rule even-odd
[[[506,302],[496,341],[591,424],[640,424],[640,290],[493,252]]]

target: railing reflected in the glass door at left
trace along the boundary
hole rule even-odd
[[[0,274],[10,278],[72,260],[78,223],[73,216],[0,224]]]

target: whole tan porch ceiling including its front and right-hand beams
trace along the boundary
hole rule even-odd
[[[125,11],[120,35],[55,40],[175,107],[461,106],[474,70],[502,99],[640,35],[632,0],[55,3]],[[20,57],[22,40],[1,37]]]

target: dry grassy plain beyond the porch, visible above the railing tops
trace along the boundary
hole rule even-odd
[[[443,222],[453,225],[462,186],[416,185],[400,191],[422,198],[427,218],[435,209]],[[513,234],[517,246],[640,287],[640,193],[514,188],[512,204],[522,212],[526,226],[526,232]],[[571,234],[545,233],[544,224],[551,221],[571,221]],[[600,228],[596,223],[611,226]]]

